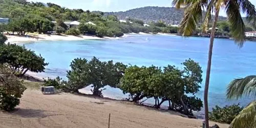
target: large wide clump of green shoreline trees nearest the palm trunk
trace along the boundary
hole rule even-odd
[[[168,65],[163,70],[159,67],[130,66],[121,78],[119,88],[130,99],[139,102],[143,98],[155,98],[155,107],[160,108],[164,101],[172,102],[169,109],[186,115],[200,111],[203,103],[195,97],[202,82],[202,70],[197,62],[188,59],[182,63],[184,69]],[[186,94],[192,95],[190,97]],[[158,99],[162,99],[159,103]]]

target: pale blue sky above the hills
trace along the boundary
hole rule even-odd
[[[90,11],[126,11],[145,6],[171,7],[172,0],[32,0],[33,2],[54,3],[71,9]],[[256,0],[250,0],[256,5]],[[220,15],[225,16],[222,11]]]

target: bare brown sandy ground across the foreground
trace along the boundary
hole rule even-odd
[[[26,90],[17,110],[0,112],[0,127],[202,127],[202,120],[188,119],[123,101],[72,94],[42,95]],[[213,123],[210,123],[211,125]],[[227,124],[218,124],[228,127]]]

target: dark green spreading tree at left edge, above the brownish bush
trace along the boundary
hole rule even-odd
[[[8,44],[0,46],[0,64],[8,63],[12,72],[17,76],[23,76],[28,70],[31,72],[44,72],[45,59],[36,55],[34,51],[24,46]]]

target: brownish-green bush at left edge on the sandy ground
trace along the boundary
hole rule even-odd
[[[0,109],[5,111],[14,110],[19,104],[26,87],[8,67],[0,65]]]

